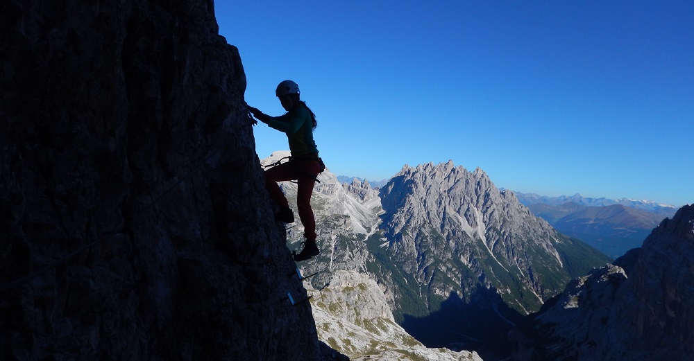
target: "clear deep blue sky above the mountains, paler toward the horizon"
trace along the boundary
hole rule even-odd
[[[279,116],[297,82],[337,175],[452,159],[523,193],[694,202],[694,1],[214,5],[248,104]]]

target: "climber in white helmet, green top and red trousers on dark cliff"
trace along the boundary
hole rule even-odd
[[[287,163],[265,171],[265,188],[272,200],[280,206],[280,211],[275,213],[275,219],[291,223],[294,222],[294,212],[289,208],[287,197],[282,193],[277,182],[296,179],[298,185],[296,206],[299,219],[305,229],[306,240],[303,250],[294,254],[294,261],[304,261],[321,253],[316,245],[316,219],[311,208],[311,193],[316,177],[324,168],[313,139],[313,131],[318,123],[316,123],[316,115],[304,101],[299,99],[299,87],[296,82],[291,80],[280,82],[275,94],[287,111],[284,115],[269,116],[251,106],[248,107],[248,111],[257,120],[287,134],[291,157]]]

